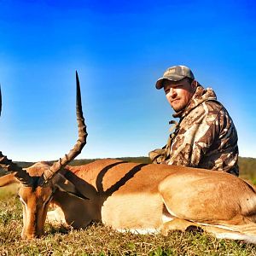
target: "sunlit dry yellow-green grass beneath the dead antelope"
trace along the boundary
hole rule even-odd
[[[85,230],[46,224],[44,237],[24,241],[15,191],[15,186],[0,189],[0,255],[256,255],[254,245],[207,234],[172,231],[166,237],[143,236],[119,233],[102,224]]]

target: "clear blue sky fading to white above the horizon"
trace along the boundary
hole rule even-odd
[[[154,83],[183,64],[215,90],[256,157],[256,3],[0,0],[0,150],[55,160],[77,140],[78,70],[88,139],[78,158],[166,144],[172,108]]]

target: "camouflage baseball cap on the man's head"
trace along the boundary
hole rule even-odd
[[[182,66],[182,65],[169,67],[165,71],[163,77],[156,81],[155,88],[161,89],[163,87],[164,79],[168,79],[176,82],[184,78],[189,78],[193,80],[195,79],[194,74],[192,73],[189,67]]]

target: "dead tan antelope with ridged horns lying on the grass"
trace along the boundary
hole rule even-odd
[[[26,169],[2,153],[0,166],[10,174],[0,186],[20,183],[23,206],[21,236],[44,233],[49,221],[84,228],[102,221],[115,230],[138,233],[187,230],[201,227],[218,238],[256,243],[256,193],[241,178],[183,166],[145,165],[121,160],[97,160],[84,166],[67,166],[85,144],[87,136],[77,76],[79,140],[52,166],[37,163]]]

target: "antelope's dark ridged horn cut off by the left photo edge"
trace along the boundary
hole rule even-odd
[[[0,87],[0,115],[2,111],[2,94]],[[16,165],[12,160],[9,160],[5,155],[0,151],[0,166],[8,172],[15,172],[15,177],[25,185],[32,184],[32,177],[23,170],[20,166]]]

